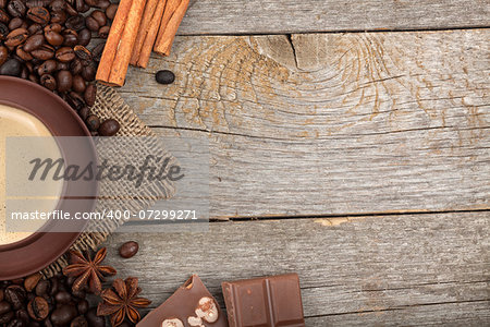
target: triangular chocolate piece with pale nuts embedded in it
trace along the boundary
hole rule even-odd
[[[203,281],[193,275],[137,327],[226,327],[226,317]]]

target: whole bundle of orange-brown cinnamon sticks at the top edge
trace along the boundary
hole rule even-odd
[[[97,70],[97,81],[124,85],[130,63],[146,68],[155,52],[169,56],[189,0],[121,0]]]

